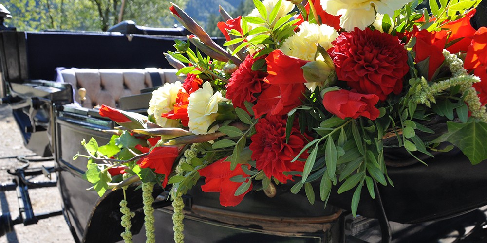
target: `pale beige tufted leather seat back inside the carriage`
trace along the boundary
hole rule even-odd
[[[176,69],[64,69],[60,71],[62,82],[70,83],[75,89],[75,102],[81,104],[79,88],[86,89],[86,100],[82,106],[96,105],[118,107],[120,97],[140,94],[140,90],[153,87],[151,74],[159,75],[162,84],[177,80]]]

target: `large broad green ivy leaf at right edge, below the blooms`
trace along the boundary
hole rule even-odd
[[[467,123],[447,122],[448,132],[433,142],[448,141],[462,150],[472,164],[487,159],[487,123],[470,120]]]

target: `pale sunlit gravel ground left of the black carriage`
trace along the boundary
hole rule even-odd
[[[0,183],[10,183],[14,176],[7,173],[8,169],[15,170],[21,166],[15,156],[34,155],[23,145],[19,127],[12,117],[10,107],[0,105]],[[14,156],[14,158],[10,158]],[[36,158],[36,157],[33,157]],[[42,165],[54,166],[54,161],[31,163],[29,168],[39,168]],[[55,175],[53,180],[55,180]],[[32,181],[48,181],[43,175],[36,176]],[[29,190],[32,206],[35,214],[61,210],[61,198],[56,187]],[[0,211],[5,214],[10,212],[12,219],[19,216],[19,204],[16,191],[0,191]],[[72,243],[73,236],[64,220],[64,217],[54,216],[39,220],[35,225],[14,226],[14,231],[1,236],[0,243]]]

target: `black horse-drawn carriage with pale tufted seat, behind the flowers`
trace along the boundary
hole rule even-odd
[[[39,156],[53,156],[62,213],[76,242],[121,240],[122,192],[99,197],[87,191],[82,178],[87,160],[73,156],[84,148],[80,141],[94,137],[108,142],[115,123],[101,117],[97,105],[144,113],[151,91],[177,80],[176,70],[163,52],[175,39],[185,39],[184,29],[148,29],[125,23],[107,33],[0,32],[3,79],[2,103],[12,106],[24,143]],[[470,166],[458,150],[428,159],[428,167],[410,163],[399,151],[388,153],[389,176],[395,187],[376,186],[376,199],[365,194],[350,212],[352,193],[333,194],[328,206],[309,205],[304,193],[294,195],[289,185],[275,188],[273,197],[262,191],[249,193],[236,207],[225,208],[218,197],[198,186],[185,196],[187,242],[431,242],[454,238],[459,242],[486,239],[487,163]],[[408,158],[407,158],[408,157]],[[458,173],[462,171],[462,173]],[[0,235],[14,224],[36,221],[29,209],[29,184],[20,171],[15,185],[2,190],[22,191],[24,208],[12,220],[0,220]],[[200,183],[201,185],[201,183]],[[136,242],[144,234],[140,190],[129,187],[129,207],[136,212],[132,232]],[[468,188],[468,190],[465,190]],[[336,192],[335,192],[336,193]],[[156,188],[156,239],[172,242],[172,208],[168,191]],[[452,236],[452,234],[457,235]]]

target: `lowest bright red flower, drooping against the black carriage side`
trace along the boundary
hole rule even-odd
[[[230,170],[230,164],[230,162],[221,159],[199,170],[200,175],[206,177],[205,185],[201,186],[201,190],[205,192],[219,192],[220,204],[225,207],[237,206],[242,202],[245,194],[252,190],[252,184],[250,184],[247,191],[235,196],[235,191],[243,182],[233,182],[230,178],[237,175],[242,175],[245,178],[249,175],[245,174],[240,165],[237,165],[235,170]],[[247,166],[250,169],[250,165]]]

